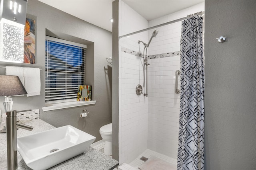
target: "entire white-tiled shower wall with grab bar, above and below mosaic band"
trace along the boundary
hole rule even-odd
[[[204,2],[148,22],[149,27],[204,11]],[[148,55],[180,51],[181,21],[159,27]],[[148,31],[150,38],[153,30]],[[180,55],[148,61],[148,149],[177,159],[180,95],[175,94],[175,71]],[[179,86],[178,78],[178,86]]]

